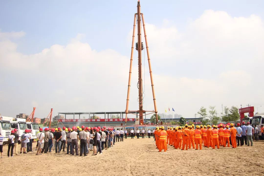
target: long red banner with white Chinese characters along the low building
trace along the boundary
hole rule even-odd
[[[109,119],[59,119],[59,122],[124,122],[125,118],[109,118]],[[127,122],[134,122],[135,118],[128,118]]]

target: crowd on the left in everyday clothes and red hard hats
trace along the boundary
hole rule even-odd
[[[125,131],[123,129],[106,128],[103,126],[98,127],[85,127],[85,126],[73,126],[72,128],[40,128],[37,132],[37,145],[36,155],[51,152],[55,150],[55,153],[61,153],[66,151],[66,154],[76,156],[87,156],[89,151],[93,151],[92,155],[103,153],[103,150],[107,150],[115,145],[115,142],[124,141]],[[3,158],[3,137],[0,133],[0,152],[1,158]],[[126,138],[126,135],[125,135]],[[8,136],[8,157],[14,157],[13,149],[15,149],[15,155],[18,155],[18,140],[17,129],[11,131]],[[32,134],[31,130],[26,129],[20,137],[20,154],[27,154],[33,152],[32,149]],[[22,151],[23,150],[23,151]],[[11,151],[11,152],[10,152]],[[75,151],[75,152],[74,152]]]

